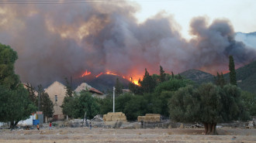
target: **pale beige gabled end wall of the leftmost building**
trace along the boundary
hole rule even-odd
[[[45,92],[49,94],[50,100],[52,100],[54,104],[54,117],[57,117],[55,119],[64,119],[61,105],[66,96],[65,86],[62,83],[55,81],[45,90]],[[55,100],[55,95],[57,95],[57,101]]]

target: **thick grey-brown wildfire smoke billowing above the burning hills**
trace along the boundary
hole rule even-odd
[[[85,70],[138,78],[144,68],[158,73],[159,65],[168,73],[216,73],[228,69],[229,55],[237,66],[255,60],[256,49],[234,39],[227,19],[192,19],[193,38],[187,41],[171,15],[158,13],[138,24],[138,9],[123,2],[1,5],[0,43],[18,52],[16,73],[34,85],[79,77]]]

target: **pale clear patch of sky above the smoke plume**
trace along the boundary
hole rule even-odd
[[[158,12],[172,15],[189,38],[189,23],[195,16],[230,19],[235,32],[256,32],[256,1],[254,0],[136,0],[140,5],[137,18],[140,22]]]

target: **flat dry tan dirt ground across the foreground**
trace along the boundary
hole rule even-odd
[[[0,130],[0,142],[256,142],[256,129],[219,128],[220,135],[204,135],[203,128],[114,129],[41,128]]]

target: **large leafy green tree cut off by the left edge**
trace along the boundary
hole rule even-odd
[[[17,53],[10,46],[0,44],[0,121],[10,121],[11,128],[36,111],[14,71],[17,59]]]

